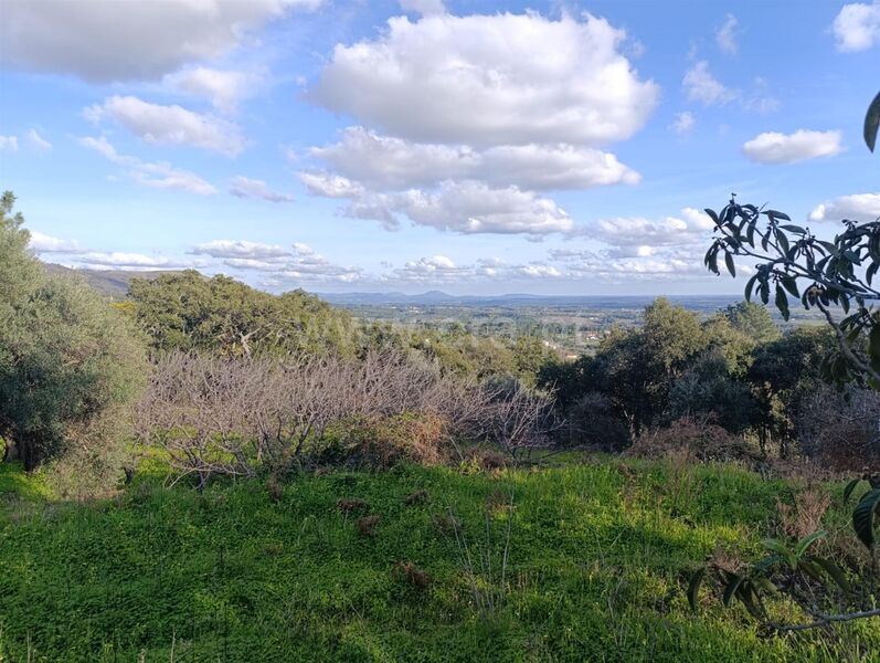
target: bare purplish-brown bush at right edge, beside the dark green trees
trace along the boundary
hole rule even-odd
[[[802,453],[839,471],[880,463],[880,393],[823,386],[799,408]]]

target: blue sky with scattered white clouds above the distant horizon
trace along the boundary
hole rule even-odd
[[[6,0],[49,262],[273,291],[732,293],[700,212],[880,215],[880,3]],[[741,264],[748,273],[749,264]]]

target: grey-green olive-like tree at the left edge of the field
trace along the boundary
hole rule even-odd
[[[78,473],[112,483],[120,471],[125,412],[146,372],[142,347],[87,285],[42,271],[26,250],[21,214],[11,214],[13,203],[4,193],[0,435],[29,470],[65,455]]]

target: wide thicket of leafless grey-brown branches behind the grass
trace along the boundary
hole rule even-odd
[[[480,385],[401,352],[350,361],[173,354],[135,408],[137,439],[165,450],[181,475],[198,475],[200,487],[212,474],[301,465],[326,451],[335,427],[343,451],[385,467],[443,462],[456,440],[489,440],[517,456],[548,444],[553,425],[542,393]]]

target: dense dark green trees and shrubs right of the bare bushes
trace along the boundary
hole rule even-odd
[[[658,299],[643,326],[614,330],[594,357],[545,365],[538,383],[554,391],[568,420],[561,439],[572,443],[621,449],[691,418],[754,442],[764,455],[802,453],[861,467],[877,454],[877,394],[826,386],[821,364],[834,347],[826,328],[782,334],[756,304],[743,302],[700,323]],[[855,446],[871,454],[847,452]]]

